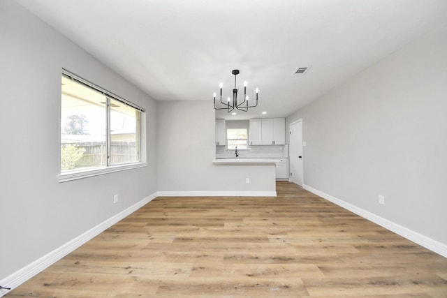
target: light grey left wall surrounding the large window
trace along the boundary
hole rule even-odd
[[[0,1],[0,280],[156,192],[156,102]],[[147,110],[148,167],[59,183],[61,68]],[[119,194],[119,202],[112,196]]]

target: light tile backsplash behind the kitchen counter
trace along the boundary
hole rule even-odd
[[[239,158],[288,158],[288,144],[249,146],[248,149],[237,149]],[[216,146],[216,158],[233,158],[235,149]]]

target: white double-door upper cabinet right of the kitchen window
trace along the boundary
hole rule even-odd
[[[250,119],[251,145],[286,144],[286,119]]]

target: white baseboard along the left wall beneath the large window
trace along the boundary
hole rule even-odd
[[[54,251],[47,253],[47,255],[44,255],[42,258],[35,260],[22,269],[15,271],[15,273],[11,274],[10,276],[3,278],[0,281],[0,285],[11,288],[11,290],[17,288],[19,285],[29,280],[29,278],[35,276],[39,272],[43,271],[43,269],[54,264],[54,262],[57,262],[61,258],[64,258],[64,256],[68,255],[68,253],[71,253],[76,248],[82,246],[82,244],[85,244],[87,241],[96,237],[104,230],[110,228],[112,225],[115,225],[115,223],[121,221],[126,216],[129,216],[134,211],[140,209],[148,202],[154,200],[154,198],[156,198],[156,193],[149,195],[147,198],[140,200],[140,202],[137,202],[131,207],[119,212],[115,216],[108,218],[106,221],[103,221],[99,225],[96,225],[96,227],[91,228],[83,234],[80,234],[80,236],[71,241],[68,241],[66,244],[60,246],[59,248],[56,248]],[[6,295],[9,291],[10,290],[0,290],[0,297]]]

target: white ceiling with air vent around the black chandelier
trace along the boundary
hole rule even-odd
[[[225,119],[286,117],[447,15],[446,0],[17,1],[155,100],[212,109],[239,69],[237,89],[258,87],[258,107]]]

